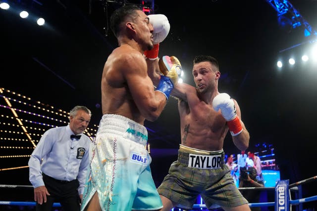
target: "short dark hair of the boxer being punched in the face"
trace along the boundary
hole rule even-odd
[[[138,16],[138,13],[136,12],[137,10],[141,10],[141,8],[136,5],[125,5],[114,10],[110,16],[110,28],[115,37],[118,36],[120,25],[126,17],[130,16],[135,18]]]

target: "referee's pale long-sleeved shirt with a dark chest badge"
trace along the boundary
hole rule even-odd
[[[44,185],[43,172],[58,180],[77,178],[78,194],[84,193],[91,140],[83,133],[79,140],[72,140],[72,134],[69,125],[51,128],[43,134],[29,160],[29,180],[34,188]]]

